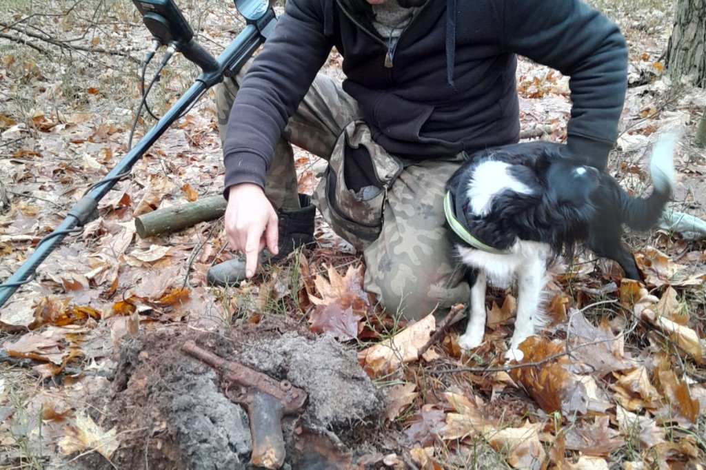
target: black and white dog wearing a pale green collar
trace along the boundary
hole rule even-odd
[[[577,243],[616,260],[626,277],[642,280],[633,254],[621,241],[623,224],[644,231],[657,223],[674,188],[676,136],[652,150],[653,191],[633,198],[604,171],[561,157],[561,144],[505,145],[472,155],[447,183],[444,209],[456,255],[471,287],[462,349],[483,342],[486,282],[517,280],[517,318],[508,358],[548,322],[542,312],[546,268]]]

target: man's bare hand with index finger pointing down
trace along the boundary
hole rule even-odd
[[[265,246],[270,253],[277,254],[277,212],[260,186],[241,183],[229,188],[225,232],[230,247],[245,253],[248,278],[255,274],[258,253]]]

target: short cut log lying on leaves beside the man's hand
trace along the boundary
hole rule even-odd
[[[191,227],[198,222],[217,219],[225,214],[226,200],[223,196],[201,198],[184,205],[158,209],[135,218],[135,228],[140,239]]]

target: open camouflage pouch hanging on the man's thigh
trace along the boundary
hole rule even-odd
[[[366,123],[352,121],[333,147],[314,205],[336,234],[364,250],[381,232],[385,197],[402,169],[400,159],[373,141]]]

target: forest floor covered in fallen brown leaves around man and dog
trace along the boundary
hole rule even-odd
[[[4,3],[3,280],[128,152],[150,44],[131,2]],[[678,129],[669,207],[706,219],[706,150],[693,144],[706,90],[664,75],[673,5],[593,3],[630,47],[611,174],[649,191],[650,148]],[[213,54],[243,26],[225,1],[177,4]],[[340,62],[332,52],[323,73],[342,78]],[[164,114],[197,75],[175,56],[148,97],[152,112]],[[568,78],[522,59],[517,85],[523,130],[563,141]],[[143,112],[133,143],[153,123]],[[325,164],[295,157],[299,189],[311,193]],[[438,323],[453,313],[407,324],[378,311],[361,288],[361,256],[320,218],[315,246],[226,289],[205,282],[210,265],[234,256],[222,220],[136,234],[135,217],[220,195],[222,182],[210,90],[0,308],[0,469],[251,468],[249,416],[181,351],[187,340],[308,394],[282,420],[289,469],[705,468],[702,236],[630,234],[644,284],[590,253],[557,266],[551,325],[522,345],[522,363],[508,363],[511,289],[489,290],[485,342],[464,354],[464,322]]]

